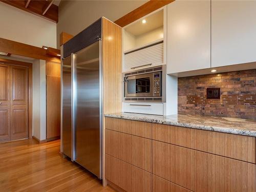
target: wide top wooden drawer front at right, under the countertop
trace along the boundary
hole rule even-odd
[[[255,138],[179,126],[152,124],[152,138],[195,150],[255,163]]]

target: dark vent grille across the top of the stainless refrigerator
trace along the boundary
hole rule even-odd
[[[101,39],[102,18],[78,33],[63,45],[63,57],[75,53]]]

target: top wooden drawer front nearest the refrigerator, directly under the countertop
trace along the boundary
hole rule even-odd
[[[106,117],[105,129],[151,139],[151,123]]]

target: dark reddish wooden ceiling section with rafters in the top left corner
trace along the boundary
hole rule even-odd
[[[22,9],[29,13],[33,13],[42,18],[51,20],[54,23],[58,23],[58,6],[52,4],[52,1],[32,1],[32,0],[27,0],[27,1],[0,0],[0,1],[8,5],[11,5],[13,7],[16,7],[18,9]],[[50,6],[49,6],[49,2],[51,2]]]

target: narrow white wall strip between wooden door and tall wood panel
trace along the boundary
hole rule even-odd
[[[33,61],[33,136],[46,139],[46,61]]]

